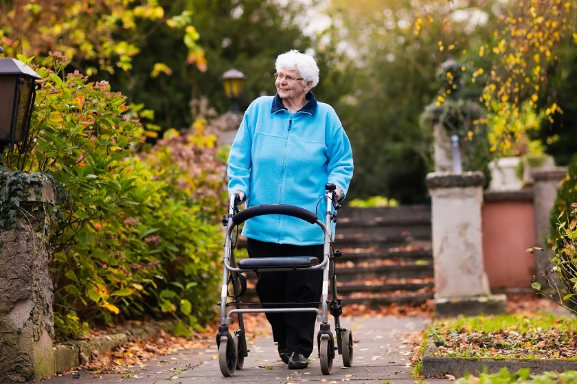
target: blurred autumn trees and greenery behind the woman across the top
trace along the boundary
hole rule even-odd
[[[131,104],[153,111],[142,122],[161,132],[229,111],[220,76],[231,67],[246,75],[243,111],[259,95],[274,94],[278,54],[313,54],[321,69],[315,96],[335,107],[353,145],[350,198],[425,203],[432,133],[420,115],[438,100],[438,68],[449,58],[462,65],[463,98],[532,100],[536,110],[548,109],[532,138],[558,165],[577,152],[575,2],[540,4],[16,0],[0,3],[0,45],[8,56],[35,56],[39,64],[49,51],[66,52],[69,71],[108,80]],[[515,40],[519,25],[527,33]],[[528,60],[519,62],[523,55],[515,52]]]

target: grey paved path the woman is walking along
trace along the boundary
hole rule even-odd
[[[330,318],[332,321],[332,318]],[[315,352],[310,356],[310,365],[304,370],[288,370],[280,361],[272,337],[251,338],[247,328],[249,356],[242,370],[234,376],[223,377],[218,368],[216,341],[214,349],[182,350],[174,354],[156,357],[146,367],[128,368],[122,374],[91,374],[85,371],[57,376],[43,384],[196,384],[196,383],[328,383],[342,381],[351,383],[416,383],[411,375],[409,344],[403,343],[408,332],[427,328],[425,317],[341,317],[341,326],[351,328],[354,338],[353,364],[343,368],[342,357],[337,354],[330,375],[321,373],[320,362]],[[334,332],[334,321],[330,323]],[[128,378],[127,376],[138,376]],[[443,379],[427,379],[426,383],[443,383]]]

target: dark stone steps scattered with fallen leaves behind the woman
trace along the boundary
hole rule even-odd
[[[238,247],[245,241],[239,239]],[[337,216],[337,293],[346,304],[422,304],[433,297],[430,205],[343,207]],[[247,273],[243,302],[256,300]]]

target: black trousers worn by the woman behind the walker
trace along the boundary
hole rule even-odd
[[[323,245],[276,244],[247,239],[247,251],[250,258],[270,256],[315,256],[322,261]],[[264,308],[267,303],[303,303],[299,306],[313,307],[319,302],[322,293],[323,272],[315,271],[279,271],[260,272],[256,282],[256,293]],[[298,306],[298,304],[297,304]],[[278,306],[268,306],[278,308]],[[315,306],[316,307],[316,306]],[[267,313],[267,319],[273,328],[273,339],[288,346],[288,352],[297,352],[309,357],[315,346],[316,313]]]

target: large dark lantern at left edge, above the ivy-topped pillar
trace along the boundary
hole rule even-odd
[[[40,87],[36,80],[40,78],[20,60],[0,58],[0,154],[4,149],[13,150],[14,144],[19,153],[26,150],[36,89]]]

